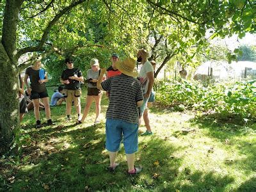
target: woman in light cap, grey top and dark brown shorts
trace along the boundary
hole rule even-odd
[[[99,66],[99,60],[93,58],[90,61],[91,68],[87,71],[86,76],[86,83],[88,83],[88,92],[86,97],[86,106],[83,111],[83,116],[81,120],[77,121],[77,124],[82,124],[84,122],[84,119],[89,113],[90,107],[92,105],[93,100],[95,100],[95,106],[96,106],[96,117],[95,117],[95,124],[99,124],[99,115],[100,115],[100,101],[102,97],[102,92],[97,88],[97,81],[100,76],[100,66]]]

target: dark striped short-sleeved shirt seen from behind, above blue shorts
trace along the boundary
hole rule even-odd
[[[137,102],[143,100],[140,81],[121,74],[103,81],[101,86],[105,91],[110,92],[106,118],[138,124]]]

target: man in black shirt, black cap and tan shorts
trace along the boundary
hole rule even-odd
[[[64,86],[64,97],[66,100],[66,114],[67,121],[72,120],[71,118],[71,108],[72,101],[74,101],[74,106],[76,107],[77,119],[79,120],[81,115],[81,81],[84,80],[83,74],[79,68],[74,67],[74,63],[70,58],[65,59],[67,68],[63,70],[61,74],[60,82],[65,84]]]

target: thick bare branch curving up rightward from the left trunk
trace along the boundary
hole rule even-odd
[[[69,6],[63,8],[63,10],[61,10],[52,20],[51,22],[49,22],[49,24],[47,25],[47,27],[44,29],[44,33],[42,35],[42,38],[40,40],[40,42],[38,43],[37,46],[35,47],[24,47],[23,49],[20,49],[17,52],[17,58],[19,58],[22,54],[26,53],[26,52],[34,52],[34,51],[42,51],[43,46],[47,40],[47,36],[49,35],[49,32],[51,31],[52,26],[54,26],[54,24],[56,24],[56,22],[58,22],[58,20],[60,19],[60,17],[62,15],[64,15],[65,13],[67,13],[68,11],[70,11],[72,8],[74,8],[75,6],[77,6],[78,4],[84,3],[86,0],[79,0],[76,1],[72,4],[70,4]]]

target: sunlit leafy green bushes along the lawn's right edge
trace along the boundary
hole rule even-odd
[[[182,80],[157,83],[157,101],[165,106],[199,111],[212,111],[223,117],[230,115],[241,118],[256,117],[255,83],[209,83]]]

